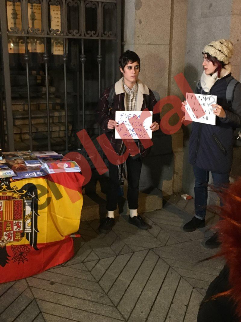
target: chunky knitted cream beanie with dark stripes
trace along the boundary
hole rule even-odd
[[[204,47],[202,53],[209,53],[211,56],[217,58],[220,62],[228,64],[233,55],[233,44],[226,39],[212,41]]]

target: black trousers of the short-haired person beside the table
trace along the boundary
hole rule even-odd
[[[127,201],[129,209],[138,208],[139,180],[142,166],[142,157],[132,158],[129,156],[126,160],[127,167]],[[109,186],[107,190],[106,209],[116,210],[118,202],[119,176],[118,167],[109,162]]]

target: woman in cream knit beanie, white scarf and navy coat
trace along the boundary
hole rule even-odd
[[[204,47],[202,54],[204,70],[195,93],[217,95],[217,104],[212,104],[216,125],[192,123],[189,163],[193,165],[195,176],[195,216],[184,225],[186,232],[205,226],[210,172],[217,189],[228,185],[234,130],[241,124],[241,84],[231,76],[232,43],[225,39],[213,41]],[[186,101],[182,103],[183,111],[185,104]],[[221,200],[220,203],[222,205]],[[217,233],[205,245],[218,247]]]

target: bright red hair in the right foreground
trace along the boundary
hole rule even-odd
[[[229,267],[231,289],[213,296],[230,296],[237,304],[236,313],[241,317],[241,178],[222,192],[224,206],[220,208],[222,220],[217,224],[221,250],[210,257],[224,256]]]

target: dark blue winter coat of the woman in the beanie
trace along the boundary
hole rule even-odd
[[[233,160],[234,130],[241,124],[241,84],[237,83],[233,101],[228,104],[226,90],[231,73],[217,80],[209,93],[196,88],[195,93],[217,95],[217,104],[226,112],[225,118],[216,116],[216,125],[192,122],[189,143],[189,163],[217,172],[229,173]]]

